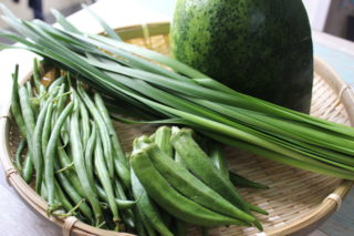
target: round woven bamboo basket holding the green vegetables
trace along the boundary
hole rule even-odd
[[[117,29],[127,42],[146,47],[164,54],[169,53],[169,23],[152,23]],[[333,122],[354,124],[354,93],[350,86],[321,59],[315,58],[315,74],[311,114]],[[30,78],[24,78],[24,81]],[[19,133],[13,125],[8,104],[0,121],[1,162],[9,185],[39,216],[45,217],[63,228],[63,235],[124,236],[95,228],[75,217],[58,218],[46,215],[46,203],[25,184],[12,164],[19,144]],[[124,125],[116,123],[118,135],[126,151],[132,140],[149,133],[152,125]],[[319,227],[341,206],[342,199],[352,187],[352,182],[313,174],[254,156],[236,148],[228,148],[230,168],[239,174],[270,186],[270,189],[246,189],[240,193],[247,201],[269,212],[269,216],[258,217],[264,226],[260,233],[253,227],[219,227],[214,235],[306,235]],[[191,228],[190,235],[200,235],[200,229]]]

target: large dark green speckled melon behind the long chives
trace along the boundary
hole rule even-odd
[[[226,85],[309,113],[311,28],[301,0],[178,0],[173,55]]]

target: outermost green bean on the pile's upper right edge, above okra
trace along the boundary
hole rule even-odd
[[[111,140],[112,140],[112,145],[115,151],[115,157],[124,164],[124,166],[127,168],[127,161],[125,158],[125,154],[123,152],[118,135],[114,129],[114,125],[112,123],[112,120],[110,117],[110,113],[104,104],[104,101],[102,96],[98,93],[95,93],[94,100],[96,103],[96,107],[98,109],[104,122],[106,123]],[[118,171],[118,170],[117,170]],[[127,168],[128,171],[128,168]],[[127,176],[131,176],[129,172],[127,172]]]

